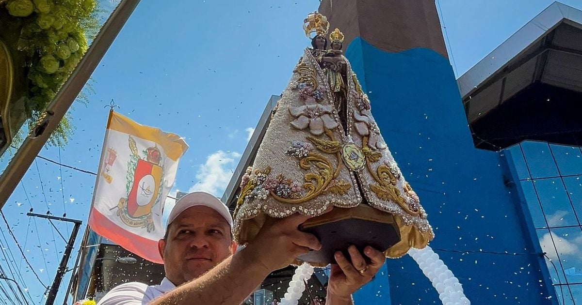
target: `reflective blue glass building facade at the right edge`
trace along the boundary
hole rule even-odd
[[[582,304],[582,149],[524,141],[508,148],[559,304]]]

